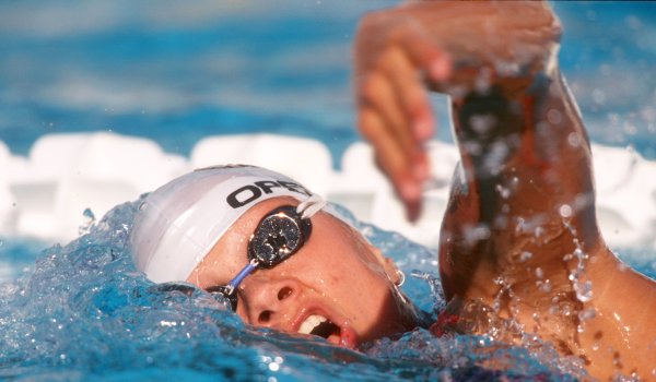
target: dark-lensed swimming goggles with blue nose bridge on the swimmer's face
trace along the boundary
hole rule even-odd
[[[210,287],[207,291],[223,298],[236,311],[237,287],[244,278],[256,270],[271,268],[296,253],[309,239],[309,217],[325,205],[325,201],[313,195],[297,207],[283,205],[269,212],[248,240],[248,264],[226,285]]]

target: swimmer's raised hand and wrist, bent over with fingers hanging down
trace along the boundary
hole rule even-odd
[[[457,97],[480,85],[481,73],[532,79],[553,56],[559,36],[555,16],[539,2],[424,1],[362,20],[354,50],[358,124],[409,219],[419,216],[430,174],[423,147],[435,118],[427,87]]]

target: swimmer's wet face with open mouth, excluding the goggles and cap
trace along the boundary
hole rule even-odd
[[[277,198],[250,208],[187,280],[203,289],[227,284],[248,263],[248,239],[261,218],[285,204],[298,202]],[[331,215],[319,212],[311,220],[311,237],[296,253],[239,285],[237,314],[255,326],[319,335],[349,348],[411,329],[411,309],[394,290],[394,263]]]

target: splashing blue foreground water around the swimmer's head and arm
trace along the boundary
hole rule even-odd
[[[197,288],[155,285],[134,270],[126,239],[137,203],[116,207],[87,235],[46,249],[31,271],[0,286],[0,379],[27,380],[575,380],[574,360],[548,345],[435,337],[415,330],[356,353],[323,339],[245,325]],[[347,211],[341,210],[343,214]],[[352,218],[352,217],[351,217]],[[405,291],[435,318],[444,307],[434,253],[359,224],[409,277]],[[15,251],[12,250],[12,251]],[[507,369],[484,368],[494,360]]]

